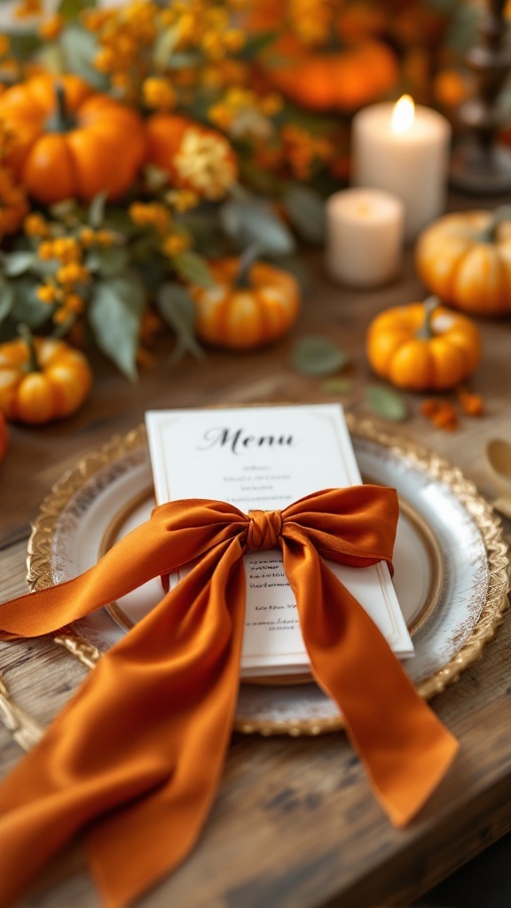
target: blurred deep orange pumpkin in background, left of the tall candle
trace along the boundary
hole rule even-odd
[[[312,111],[352,112],[386,94],[397,81],[392,51],[377,41],[335,52],[296,54],[269,72],[272,85]]]

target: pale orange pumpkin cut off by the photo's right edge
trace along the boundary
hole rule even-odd
[[[511,312],[511,207],[446,214],[421,234],[416,267],[429,291],[456,309]]]

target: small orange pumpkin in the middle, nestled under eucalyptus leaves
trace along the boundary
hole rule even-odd
[[[241,262],[241,266],[240,266]],[[215,287],[193,287],[197,336],[229,350],[276,341],[296,321],[300,291],[295,278],[266,262],[210,262]]]

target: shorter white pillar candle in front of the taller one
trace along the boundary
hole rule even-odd
[[[378,189],[346,189],[326,202],[326,267],[350,287],[392,281],[403,251],[403,202]]]

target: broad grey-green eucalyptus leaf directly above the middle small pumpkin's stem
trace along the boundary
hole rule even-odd
[[[292,234],[267,202],[231,199],[220,209],[220,222],[239,249],[256,245],[263,255],[288,255],[295,249]]]

